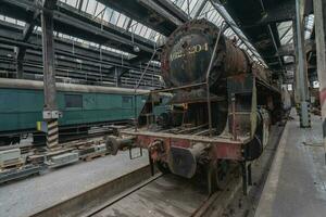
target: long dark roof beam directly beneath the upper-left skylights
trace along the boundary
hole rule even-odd
[[[42,7],[28,0],[1,0],[0,13],[28,23],[35,11],[43,10]],[[58,3],[53,10],[53,29],[87,41],[104,44],[135,55],[150,58],[154,50],[154,41],[135,35],[131,41],[131,33],[114,26],[110,23],[102,25],[91,16],[79,13],[78,9]],[[37,23],[37,25],[40,25]],[[140,48],[135,52],[134,47]]]

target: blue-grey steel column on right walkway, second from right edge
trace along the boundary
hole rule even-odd
[[[311,127],[308,68],[304,48],[304,4],[305,0],[296,1],[296,92],[299,100],[300,127]]]

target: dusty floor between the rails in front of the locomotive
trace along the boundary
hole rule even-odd
[[[188,217],[206,199],[205,188],[168,174],[101,210],[96,217]]]

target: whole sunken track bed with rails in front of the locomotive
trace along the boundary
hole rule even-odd
[[[263,162],[269,162],[271,157],[273,158],[273,154],[267,154]],[[267,167],[268,163],[262,170]],[[242,194],[239,173],[233,173],[227,179],[223,191],[208,196],[206,189],[197,180],[172,174],[151,176],[150,167],[146,166],[41,210],[33,217],[223,216],[229,204],[235,203],[237,196]],[[249,191],[255,188],[250,188]]]

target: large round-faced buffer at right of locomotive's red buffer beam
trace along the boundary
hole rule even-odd
[[[199,158],[206,153],[208,145],[197,143],[192,148],[171,146],[167,157],[170,170],[178,176],[191,178],[197,171]]]

